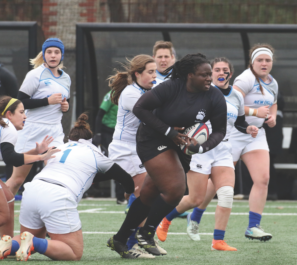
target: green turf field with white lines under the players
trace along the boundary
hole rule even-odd
[[[295,201],[268,201],[261,225],[273,238],[268,242],[248,240],[244,236],[248,225],[248,202],[235,201],[225,234],[227,244],[238,251],[211,251],[214,229],[212,202],[200,223],[200,241],[192,241],[186,235],[186,219],[176,218],[170,225],[167,240],[160,246],[167,255],[155,259],[125,260],[106,247],[106,241],[122,224],[125,206],[114,200],[82,200],[78,206],[83,224],[84,252],[80,261],[52,261],[35,253],[27,262],[32,265],[45,264],[297,264],[297,204]],[[19,230],[18,214],[20,202],[15,202],[15,230]],[[13,259],[0,261],[5,265],[15,264]]]

